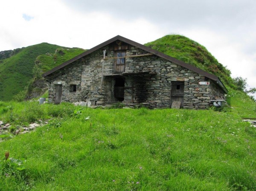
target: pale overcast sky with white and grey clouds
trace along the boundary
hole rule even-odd
[[[144,44],[182,34],[256,87],[255,0],[4,0],[0,18],[0,51],[42,42],[90,49],[118,34]]]

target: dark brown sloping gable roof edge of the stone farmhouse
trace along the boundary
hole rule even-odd
[[[205,76],[205,77],[208,77],[209,79],[211,79],[211,80],[213,80],[215,83],[217,83],[218,86],[220,86],[221,89],[222,89],[224,92],[226,92],[226,93],[228,92],[228,91],[227,91],[227,88],[224,86],[224,84],[221,82],[221,80],[220,80],[217,76],[215,76],[214,74],[210,74],[210,73],[208,73],[208,72],[206,72],[206,71],[204,71],[204,70],[201,70],[200,68],[197,68],[197,67],[195,67],[195,66],[192,66],[192,65],[190,65],[190,64],[187,64],[187,63],[185,63],[185,62],[183,62],[183,61],[181,61],[181,60],[177,60],[177,59],[174,58],[174,57],[170,57],[170,56],[168,56],[168,55],[166,55],[166,54],[163,54],[163,53],[160,52],[160,51],[154,50],[154,49],[149,48],[149,47],[147,47],[147,46],[144,46],[144,45],[142,45],[142,44],[140,44],[140,43],[137,43],[137,42],[135,42],[135,41],[133,41],[133,40],[130,40],[130,39],[125,38],[125,37],[122,37],[122,36],[120,36],[120,35],[117,35],[116,37],[113,37],[113,38],[111,38],[111,39],[105,41],[104,43],[101,43],[101,44],[99,44],[99,45],[97,45],[97,46],[95,46],[95,47],[93,47],[93,48],[91,48],[91,49],[85,51],[84,53],[79,54],[79,55],[76,56],[76,57],[73,57],[73,58],[70,59],[70,60],[67,60],[66,62],[62,63],[61,65],[56,66],[55,68],[53,68],[53,69],[51,69],[51,70],[45,72],[44,74],[42,74],[42,77],[46,77],[46,76],[48,76],[49,74],[52,74],[53,72],[55,72],[55,71],[57,71],[57,70],[59,70],[59,69],[65,67],[65,66],[69,65],[70,63],[73,63],[74,61],[79,60],[80,58],[82,58],[82,57],[84,57],[84,56],[86,56],[86,55],[92,53],[93,51],[96,51],[96,50],[98,50],[99,48],[102,48],[102,47],[104,47],[104,46],[106,46],[106,45],[108,45],[108,44],[110,44],[110,43],[113,43],[113,42],[116,41],[116,40],[121,40],[121,41],[123,41],[123,42],[125,42],[125,43],[128,43],[128,44],[132,45],[132,46],[136,46],[136,47],[138,47],[138,48],[140,48],[140,49],[142,49],[142,50],[145,50],[145,51],[147,51],[147,52],[149,52],[149,53],[151,53],[151,54],[154,54],[154,55],[156,55],[156,56],[158,56],[158,57],[164,58],[164,59],[166,59],[166,60],[168,60],[168,61],[170,61],[170,62],[172,62],[172,63],[175,63],[175,64],[180,65],[180,66],[182,66],[182,67],[184,67],[184,68],[187,68],[187,69],[189,69],[189,70],[191,70],[191,71],[194,71],[194,72],[196,72],[196,73],[198,73],[198,74],[201,74],[201,75],[203,75],[203,76]]]

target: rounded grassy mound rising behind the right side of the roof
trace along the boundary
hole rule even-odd
[[[233,87],[230,71],[219,63],[204,46],[187,37],[166,35],[153,42],[146,43],[145,46],[215,74],[220,77],[223,83]]]

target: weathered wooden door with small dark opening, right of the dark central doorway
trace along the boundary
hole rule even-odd
[[[184,82],[172,81],[172,91],[171,91],[171,103],[174,101],[180,102],[180,108],[183,108],[183,98],[184,98]]]

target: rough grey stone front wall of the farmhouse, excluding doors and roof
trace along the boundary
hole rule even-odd
[[[113,103],[114,77],[102,78],[103,74],[113,74],[114,59],[103,60],[102,51],[106,50],[107,57],[115,57],[115,52],[105,46],[88,54],[82,59],[50,74],[49,102],[54,102],[55,85],[63,85],[62,100],[67,102],[93,101],[97,105]],[[131,47],[126,55],[140,55],[148,52],[137,47]],[[156,55],[126,58],[125,73],[139,73],[143,71],[155,74],[125,75],[125,96],[123,103],[131,103],[131,87],[133,102],[147,102],[156,108],[170,107],[172,81],[184,81],[184,108],[208,108],[214,97],[224,98],[224,93],[210,81],[210,85],[199,85],[205,77],[175,63],[169,62]],[[70,92],[70,85],[76,85],[76,92]]]

